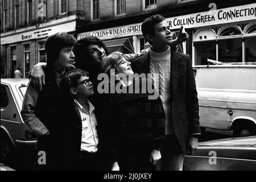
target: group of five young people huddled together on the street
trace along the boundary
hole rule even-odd
[[[39,169],[182,170],[200,135],[191,59],[176,51],[188,35],[181,28],[172,40],[161,15],[145,19],[142,33],[151,47],[128,55],[108,54],[94,36],[48,37],[47,64],[32,70],[21,111],[38,135],[37,151],[46,152]],[[104,89],[127,92],[98,92],[102,73],[115,78]],[[154,99],[145,82],[158,94]]]

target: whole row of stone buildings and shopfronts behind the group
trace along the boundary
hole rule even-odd
[[[256,62],[256,3],[250,0],[1,0],[1,77],[16,67],[27,77],[46,61],[44,42],[58,31],[78,40],[93,35],[112,51],[132,53],[150,45],[141,24],[163,15],[174,38],[181,26],[189,40],[179,51],[194,66],[212,59],[226,63]]]

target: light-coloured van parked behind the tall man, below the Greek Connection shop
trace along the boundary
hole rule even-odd
[[[256,64],[195,67],[200,126],[256,135]]]

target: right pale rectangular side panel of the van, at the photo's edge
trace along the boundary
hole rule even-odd
[[[240,68],[234,71],[232,89],[256,91],[256,68]]]

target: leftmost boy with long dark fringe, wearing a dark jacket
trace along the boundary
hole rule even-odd
[[[49,36],[46,40],[47,66],[44,68],[46,84],[39,91],[30,81],[24,96],[21,115],[38,135],[36,149],[42,155],[40,170],[59,170],[63,167],[65,143],[61,132],[64,118],[60,82],[65,69],[74,63],[73,48],[76,43],[72,35],[64,32]]]

